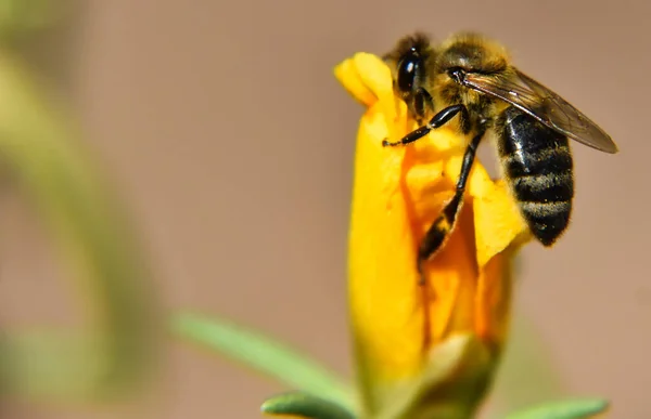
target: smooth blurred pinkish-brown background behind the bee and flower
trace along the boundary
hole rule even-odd
[[[598,121],[621,153],[574,146],[573,224],[553,250],[533,244],[519,261],[514,336],[496,397],[511,391],[509,403],[522,406],[603,396],[612,418],[651,415],[651,3],[23,3],[59,17],[3,48],[72,109],[93,167],[124,200],[164,309],[237,319],[344,375],[362,108],[332,68],[358,51],[382,54],[417,29],[438,39],[472,29],[502,41],[522,70]],[[482,153],[493,166],[492,150]],[[2,193],[1,213],[3,327],[78,324],[78,291],[15,188]],[[163,351],[159,385],[142,403],[7,396],[2,414],[255,418],[265,397],[286,390],[183,343],[165,341]],[[538,383],[528,380],[533,370]]]

